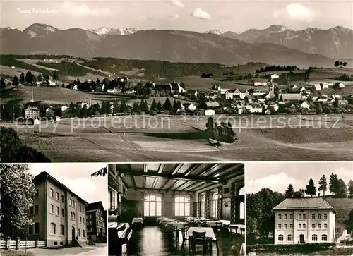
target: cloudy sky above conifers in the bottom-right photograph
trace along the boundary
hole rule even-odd
[[[294,190],[305,189],[312,178],[316,189],[318,181],[325,174],[330,181],[330,174],[337,174],[346,185],[353,180],[353,162],[259,162],[245,164],[246,193],[257,193],[261,188],[285,193],[289,184]],[[322,195],[322,192],[320,192]],[[326,192],[325,195],[329,193]]]

